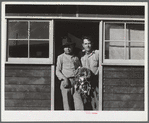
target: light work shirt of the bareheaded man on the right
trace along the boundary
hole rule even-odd
[[[90,54],[81,57],[82,66],[90,69],[95,75],[98,75],[99,50],[94,50]]]

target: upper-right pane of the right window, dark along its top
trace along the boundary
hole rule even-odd
[[[144,41],[144,24],[127,24],[127,40]]]

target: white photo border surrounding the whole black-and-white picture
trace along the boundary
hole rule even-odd
[[[131,5],[145,6],[145,110],[144,111],[6,111],[5,59],[6,59],[6,4],[34,5]],[[148,120],[148,3],[147,2],[2,2],[1,3],[1,121],[147,121]],[[54,68],[53,68],[54,69]]]

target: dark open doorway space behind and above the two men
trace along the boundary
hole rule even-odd
[[[99,22],[97,21],[76,21],[57,20],[54,23],[55,40],[55,66],[57,56],[63,53],[62,37],[69,36],[76,43],[76,52],[82,50],[82,36],[91,36],[94,42],[94,49],[99,49]],[[76,53],[76,54],[77,54]],[[55,110],[63,110],[60,81],[55,76]]]

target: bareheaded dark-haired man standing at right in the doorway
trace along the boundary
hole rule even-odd
[[[98,88],[98,67],[99,67],[99,50],[93,50],[93,42],[90,37],[83,37],[82,46],[84,48],[84,54],[81,55],[82,66],[90,69],[93,73],[92,87],[92,109],[98,110],[99,105],[99,88]]]

